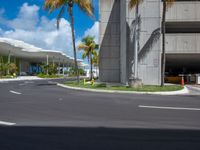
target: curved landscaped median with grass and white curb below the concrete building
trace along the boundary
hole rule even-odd
[[[93,91],[93,92],[108,92],[108,93],[134,93],[134,94],[160,94],[160,95],[178,95],[187,94],[188,90],[186,87],[180,85],[166,85],[164,87],[156,85],[144,85],[142,88],[130,88],[128,86],[113,86],[105,83],[95,83],[94,85],[90,82],[84,83],[83,81],[78,84],[76,81],[66,82],[65,84],[58,84],[69,89]]]

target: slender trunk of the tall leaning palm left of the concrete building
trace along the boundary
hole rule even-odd
[[[77,82],[80,83],[79,78],[79,69],[78,69],[78,63],[77,63],[77,56],[76,56],[76,45],[75,45],[75,34],[74,34],[74,16],[73,16],[73,4],[69,4],[69,15],[71,19],[71,29],[72,29],[72,43],[73,43],[73,50],[74,50],[74,64],[75,64],[75,71],[77,76]]]

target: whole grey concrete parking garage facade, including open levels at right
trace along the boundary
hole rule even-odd
[[[129,0],[100,0],[100,80],[126,84],[134,72],[135,9]],[[166,75],[200,73],[200,2],[176,1],[166,14]],[[139,5],[138,76],[161,82],[162,1]]]

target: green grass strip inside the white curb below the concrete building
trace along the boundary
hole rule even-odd
[[[78,84],[76,81],[70,81],[65,83],[68,86],[89,88],[89,89],[99,89],[99,90],[119,90],[119,91],[138,91],[138,92],[164,92],[164,91],[178,91],[183,89],[180,85],[166,85],[164,87],[157,85],[144,85],[142,88],[130,88],[126,86],[106,86],[106,84],[95,84],[94,86],[90,84],[83,84],[83,81]]]

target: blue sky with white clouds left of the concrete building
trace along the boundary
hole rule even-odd
[[[49,14],[44,0],[0,0],[0,37],[22,40],[48,50],[60,50],[73,56],[69,16],[64,15],[56,29],[58,11]],[[98,0],[93,0],[95,19],[74,7],[76,43],[86,35],[98,42]],[[81,53],[78,54],[81,58]]]

